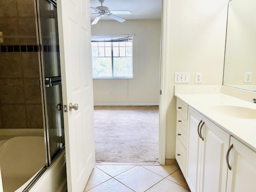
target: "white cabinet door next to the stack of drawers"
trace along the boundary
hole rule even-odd
[[[186,160],[186,181],[192,192],[199,191],[201,139],[198,136],[198,125],[203,119],[198,112],[188,109],[188,140]]]

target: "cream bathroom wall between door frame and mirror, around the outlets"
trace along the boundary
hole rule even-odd
[[[228,0],[168,1],[166,159],[175,158],[174,72],[202,72],[201,85],[221,85]],[[188,85],[188,84],[186,84]],[[200,84],[197,84],[200,85]]]

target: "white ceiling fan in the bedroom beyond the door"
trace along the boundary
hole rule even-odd
[[[113,14],[132,14],[130,11],[128,10],[123,10],[123,11],[109,11],[108,10],[108,7],[105,7],[105,6],[102,6],[102,3],[104,3],[105,0],[99,0],[99,2],[101,3],[101,6],[98,6],[96,8],[94,7],[91,7],[92,9],[95,10],[96,13],[92,13],[92,14],[100,14],[99,16],[97,16],[93,22],[92,22],[92,25],[96,24],[98,22],[98,20],[100,20],[101,17],[103,16],[108,16],[116,21],[119,21],[119,22],[124,22],[125,19],[121,18],[121,17],[118,17],[116,15],[113,15]]]

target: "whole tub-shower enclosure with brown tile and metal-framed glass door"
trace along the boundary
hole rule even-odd
[[[3,0],[0,23],[0,187],[26,192],[65,146],[56,0]]]

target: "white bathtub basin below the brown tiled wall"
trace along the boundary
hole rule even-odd
[[[44,137],[18,136],[0,144],[4,192],[22,192],[46,164]]]

